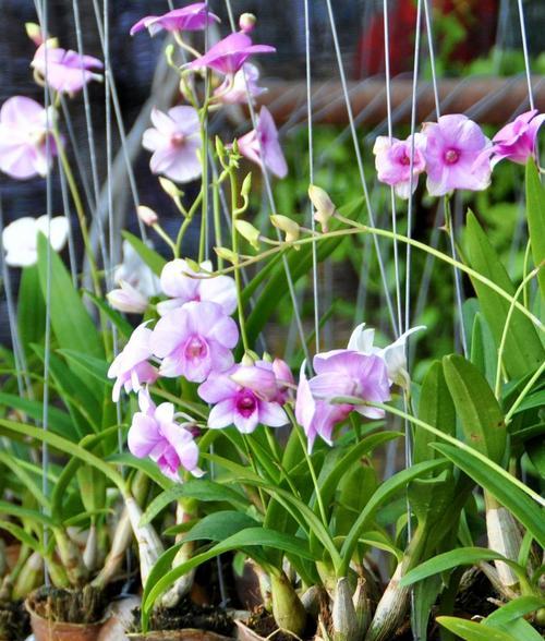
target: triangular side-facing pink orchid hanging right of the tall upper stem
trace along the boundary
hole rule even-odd
[[[262,107],[256,128],[238,141],[239,152],[259,167],[265,166],[278,178],[288,173],[288,165],[283,157],[278,130],[270,111]]]

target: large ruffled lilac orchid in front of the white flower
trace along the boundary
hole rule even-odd
[[[307,380],[302,371],[295,401],[295,418],[306,433],[310,449],[316,436],[331,444],[335,425],[353,410],[367,419],[384,416],[378,408],[334,404],[328,400],[342,396],[374,402],[389,400],[390,384],[383,359],[353,350],[334,350],[316,354],[313,365],[316,376]]]

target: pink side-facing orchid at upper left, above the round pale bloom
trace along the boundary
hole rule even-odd
[[[36,49],[31,66],[44,82],[61,94],[75,94],[90,81],[102,81],[102,76],[95,72],[104,69],[98,58],[50,47],[47,43]]]

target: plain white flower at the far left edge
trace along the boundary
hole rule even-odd
[[[27,267],[38,261],[38,233],[49,237],[51,247],[60,252],[66,244],[69,221],[56,216],[48,222],[47,216],[24,216],[8,225],[2,232],[5,263],[11,267]]]

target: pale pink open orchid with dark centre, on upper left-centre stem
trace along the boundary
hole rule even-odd
[[[201,176],[201,125],[193,107],[172,107],[167,113],[153,109],[153,129],[144,132],[142,144],[153,152],[149,167],[177,182],[190,182]]]

